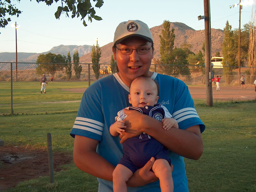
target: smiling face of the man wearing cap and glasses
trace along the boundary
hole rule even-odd
[[[140,37],[130,37],[125,39],[122,44],[117,44],[117,48],[132,48],[137,49],[139,47],[150,48],[152,43],[148,42],[144,38]],[[133,50],[132,54],[124,55],[120,50],[114,49],[114,60],[117,61],[117,66],[119,69],[119,77],[123,82],[129,86],[133,79],[146,75],[150,76],[149,68],[151,65],[151,60],[154,57],[153,49],[149,49],[147,54],[138,54],[136,50]]]

